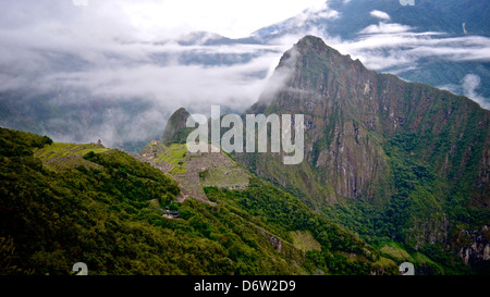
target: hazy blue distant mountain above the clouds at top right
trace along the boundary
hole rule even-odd
[[[372,11],[384,12],[371,13]],[[490,37],[485,1],[419,0],[415,5],[402,5],[392,0],[330,0],[319,9],[310,9],[284,22],[258,29],[258,38],[274,38],[305,28],[322,28],[330,36],[355,39],[358,33],[376,21],[396,23],[414,28],[414,32],[440,32],[450,37],[480,35]],[[466,34],[463,29],[465,23]]]

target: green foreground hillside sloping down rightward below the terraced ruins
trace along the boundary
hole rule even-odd
[[[4,128],[0,144],[0,274],[69,274],[75,262],[89,274],[397,273],[364,240],[257,178],[242,190],[207,187],[213,203],[176,203],[175,182],[122,151],[79,156],[70,150],[77,145]],[[52,168],[56,158],[79,162]]]

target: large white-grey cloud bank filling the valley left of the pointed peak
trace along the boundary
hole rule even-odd
[[[144,143],[159,138],[167,119],[181,107],[204,114],[211,104],[244,111],[258,99],[286,49],[249,44],[183,46],[174,41],[181,36],[176,32],[148,40],[117,17],[124,15],[120,7],[113,11],[109,3],[99,3],[100,10],[89,11],[93,4],[12,1],[5,5],[1,13],[5,17],[0,17],[0,91],[23,98],[8,99],[0,112],[13,104],[22,116],[37,119],[30,131],[57,141],[100,138],[110,147]],[[19,15],[33,9],[38,14]],[[39,115],[41,111],[34,108],[38,106],[52,109]],[[16,117],[0,123],[25,128]]]

